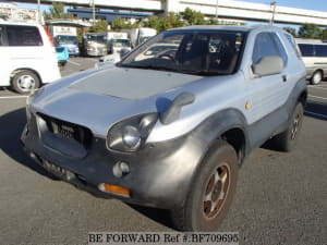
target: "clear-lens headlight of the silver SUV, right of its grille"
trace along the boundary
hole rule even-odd
[[[157,113],[149,113],[114,124],[108,132],[107,147],[120,151],[138,150],[144,145],[157,120]]]

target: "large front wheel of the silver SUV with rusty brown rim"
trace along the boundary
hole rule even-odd
[[[182,207],[171,210],[181,231],[217,231],[232,201],[238,177],[237,152],[218,140],[202,161]]]

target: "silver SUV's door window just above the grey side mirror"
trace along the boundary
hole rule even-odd
[[[256,64],[264,57],[281,57],[277,45],[271,39],[269,33],[261,33],[257,35],[254,44],[252,61]]]

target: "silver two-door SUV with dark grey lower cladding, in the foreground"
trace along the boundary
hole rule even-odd
[[[211,231],[245,157],[267,139],[294,147],[305,101],[305,68],[286,32],[177,28],[35,91],[22,142],[64,181],[170,209],[179,230]]]

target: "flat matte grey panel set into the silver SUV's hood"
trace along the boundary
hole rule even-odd
[[[199,79],[201,76],[153,70],[114,68],[81,79],[71,89],[140,100]]]

